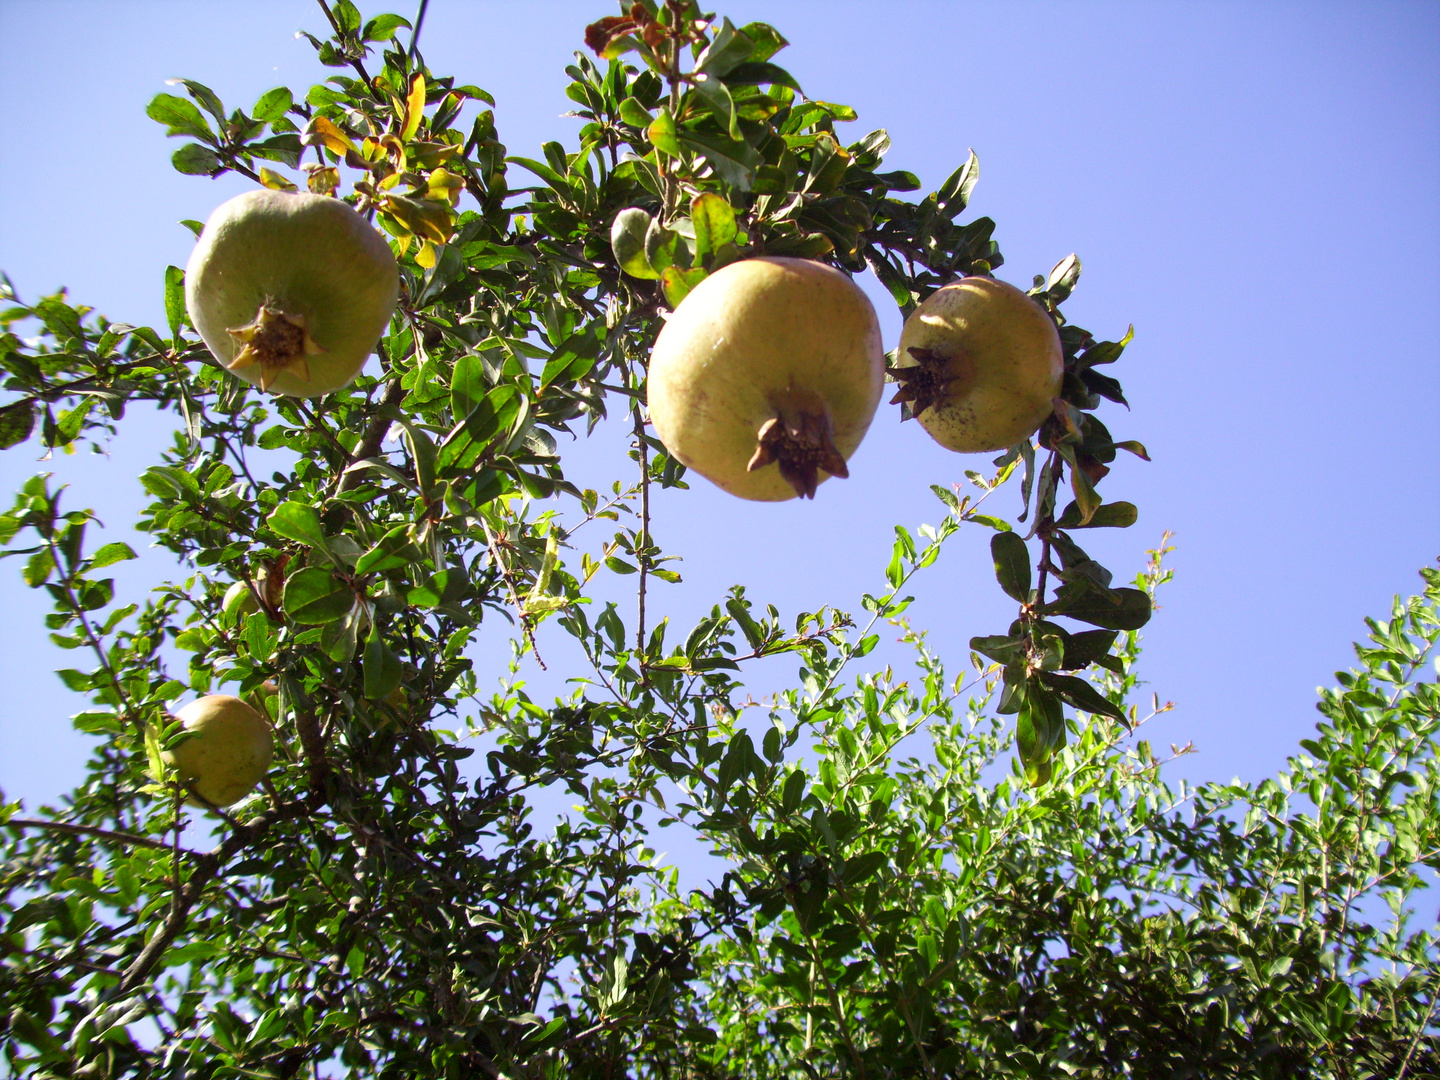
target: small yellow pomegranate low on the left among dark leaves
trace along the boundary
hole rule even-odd
[[[229,694],[196,698],[176,717],[193,736],[163,757],[207,806],[245,798],[269,772],[275,740],[265,719]]]

